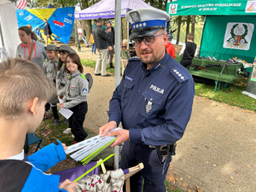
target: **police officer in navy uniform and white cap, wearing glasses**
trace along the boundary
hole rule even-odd
[[[123,79],[114,90],[103,137],[122,122],[111,145],[124,143],[120,167],[143,162],[144,169],[131,177],[131,191],[166,191],[166,172],[172,150],[189,122],[195,95],[194,81],[182,65],[166,54],[166,22],[170,16],[158,9],[136,9],[126,14],[130,39],[138,58],[131,58]],[[144,179],[144,184],[143,184]]]

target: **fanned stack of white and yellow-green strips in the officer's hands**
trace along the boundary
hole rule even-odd
[[[120,128],[115,128],[113,131],[117,131]],[[86,165],[100,154],[105,148],[108,148],[116,140],[116,137],[108,137],[108,134],[105,137],[91,137],[84,140],[83,142],[75,143],[67,148],[65,151],[66,154],[71,154],[71,158],[76,161],[81,161],[83,165]]]

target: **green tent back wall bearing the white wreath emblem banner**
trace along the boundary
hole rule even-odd
[[[207,16],[200,56],[218,60],[237,57],[253,62],[256,55],[255,16]]]

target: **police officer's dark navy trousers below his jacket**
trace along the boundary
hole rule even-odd
[[[164,163],[156,148],[126,141],[121,152],[120,167],[127,169],[141,162],[144,165],[143,170],[130,178],[132,192],[141,192],[142,187],[143,192],[166,192],[166,173],[171,161],[171,154],[168,154],[166,163]]]

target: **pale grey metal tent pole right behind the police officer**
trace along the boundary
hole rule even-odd
[[[115,44],[115,56],[114,56],[114,87],[116,88],[120,83],[120,55],[121,55],[121,0],[115,0],[115,32],[114,32],[114,44]],[[114,169],[119,168],[119,146],[114,147]]]

